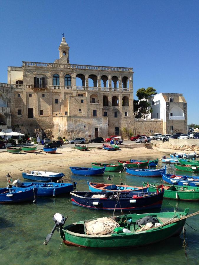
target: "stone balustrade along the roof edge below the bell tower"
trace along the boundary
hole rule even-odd
[[[57,64],[57,63],[45,63],[45,62],[22,62],[22,63],[23,63],[23,66],[133,72],[133,68],[131,67],[96,66],[96,65],[83,65],[83,64]]]

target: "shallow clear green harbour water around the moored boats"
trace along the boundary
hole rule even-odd
[[[88,165],[87,165],[88,166]],[[161,162],[159,163],[159,168]],[[55,168],[56,170],[56,168]],[[104,177],[84,177],[65,173],[65,182],[76,181],[79,191],[88,191],[87,181],[127,185],[141,185],[143,181],[157,182],[161,178],[134,177],[126,173],[114,173],[111,181]],[[175,173],[173,165],[167,165],[167,172]],[[180,175],[180,171],[179,171]],[[184,175],[183,173],[181,175]],[[189,173],[189,175],[194,175]],[[1,186],[3,183],[1,183]],[[4,185],[6,182],[4,183]],[[70,195],[56,198],[37,198],[37,203],[0,205],[0,264],[198,264],[199,260],[199,216],[188,218],[185,225],[187,247],[182,247],[183,234],[165,241],[134,249],[99,250],[84,249],[61,245],[59,233],[55,231],[47,246],[42,243],[51,232],[54,223],[52,216],[56,213],[68,215],[66,224],[112,215],[108,211],[95,211],[72,206]],[[189,213],[199,210],[198,202],[181,202],[164,199],[161,211],[184,211]],[[117,212],[116,214],[120,214]],[[58,251],[60,247],[60,250]],[[58,251],[58,253],[57,253]]]

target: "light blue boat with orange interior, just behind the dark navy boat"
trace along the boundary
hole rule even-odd
[[[131,191],[147,191],[147,188],[127,186],[127,185],[115,185],[115,184],[104,184],[104,183],[93,183],[87,181],[88,188],[92,192],[102,192],[102,191],[119,191],[119,192],[131,192]]]

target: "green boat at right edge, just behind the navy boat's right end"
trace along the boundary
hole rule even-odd
[[[178,186],[171,184],[152,184],[152,183],[142,183],[145,187],[149,185],[149,191],[155,192],[161,191],[162,186],[165,189],[164,198],[173,199],[178,201],[199,201],[199,187],[193,186]]]

